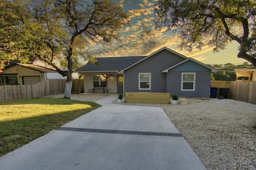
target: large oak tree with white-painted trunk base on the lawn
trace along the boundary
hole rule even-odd
[[[6,35],[0,35],[0,45],[13,50],[4,51],[5,56],[15,56],[20,61],[28,60],[32,54],[56,68],[67,76],[64,98],[71,94],[73,61],[77,61],[77,56],[92,59],[91,53],[84,50],[85,42],[119,41],[120,30],[129,23],[129,15],[108,0],[43,0],[38,4],[28,0],[0,1],[0,9],[7,12],[0,12],[0,34]],[[4,9],[6,5],[8,8]],[[56,63],[62,56],[66,58],[67,70],[60,70]]]

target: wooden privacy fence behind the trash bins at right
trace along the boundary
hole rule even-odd
[[[217,81],[212,80],[212,87],[229,88],[228,98],[256,104],[256,81]],[[219,95],[219,90],[217,95]]]

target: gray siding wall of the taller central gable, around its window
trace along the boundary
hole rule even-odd
[[[168,50],[162,50],[140,63],[124,70],[125,92],[166,92],[166,73],[162,70],[177,64],[186,58],[176,55]],[[151,90],[139,90],[139,73],[151,73]]]

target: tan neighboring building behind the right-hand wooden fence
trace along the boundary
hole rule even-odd
[[[256,67],[235,68],[236,81],[256,81]],[[248,77],[248,80],[238,80],[238,77]]]

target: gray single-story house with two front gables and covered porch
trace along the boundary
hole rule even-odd
[[[218,70],[166,47],[143,57],[96,58],[74,72],[84,74],[84,90],[105,86],[109,92],[168,92],[210,96],[211,72]]]

